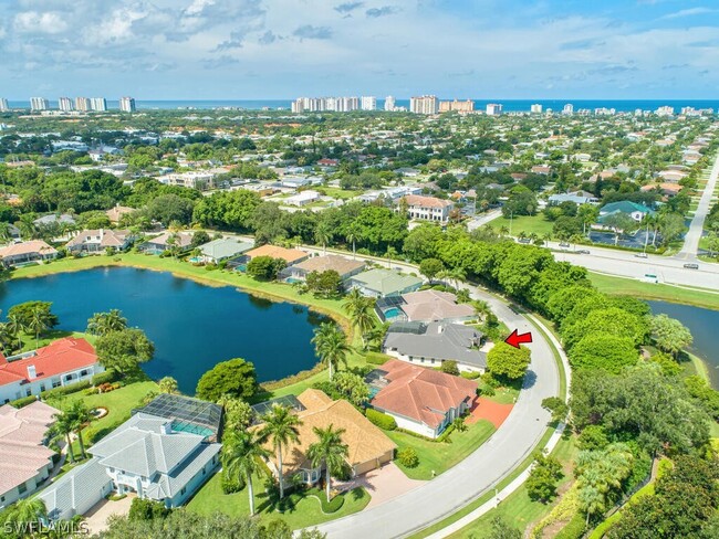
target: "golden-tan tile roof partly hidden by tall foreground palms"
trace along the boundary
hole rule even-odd
[[[282,452],[282,472],[285,476],[293,475],[301,468],[312,468],[306,452],[310,444],[317,441],[313,427],[326,429],[333,425],[334,429],[345,430],[342,442],[348,446],[346,462],[350,466],[381,458],[388,451],[397,448],[392,440],[347,401],[333,401],[316,389],[304,390],[298,400],[306,410],[298,413],[302,420],[299,443],[290,444]],[[270,444],[267,448],[272,451]],[[270,459],[277,466],[275,458],[275,453],[272,452]]]

